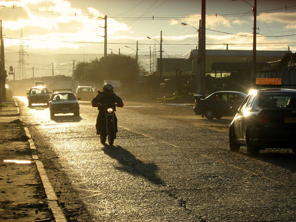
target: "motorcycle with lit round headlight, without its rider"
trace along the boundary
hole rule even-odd
[[[117,106],[117,104],[106,105],[106,104],[100,103],[99,105],[104,107],[103,110],[104,110],[105,119],[106,119],[106,131],[105,131],[106,133],[100,134],[100,140],[101,140],[101,143],[104,144],[108,136],[108,143],[111,146],[114,143],[114,139],[116,139],[114,111],[115,111],[115,106]]]

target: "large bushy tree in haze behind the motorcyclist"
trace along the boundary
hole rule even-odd
[[[90,62],[78,62],[73,73],[76,80],[103,84],[104,80],[119,80],[122,88],[135,88],[140,67],[135,58],[112,54]]]

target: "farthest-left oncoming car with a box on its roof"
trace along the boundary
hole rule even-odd
[[[48,91],[46,86],[31,87],[27,92],[29,106],[31,106],[32,103],[46,103],[48,105],[50,94],[51,92]]]

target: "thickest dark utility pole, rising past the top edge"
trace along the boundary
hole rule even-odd
[[[205,95],[205,0],[202,0],[200,43],[200,89],[201,94]]]

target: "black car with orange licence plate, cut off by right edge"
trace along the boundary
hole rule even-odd
[[[265,148],[292,148],[296,152],[296,90],[253,90],[229,127],[229,146],[238,152],[246,146],[249,155]]]

